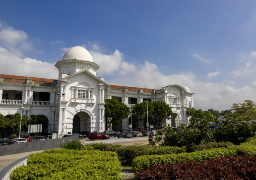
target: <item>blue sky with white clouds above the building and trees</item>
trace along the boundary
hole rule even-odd
[[[86,48],[108,84],[195,92],[196,109],[256,102],[256,1],[3,1],[0,74],[57,79]]]

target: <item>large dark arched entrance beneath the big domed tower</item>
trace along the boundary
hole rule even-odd
[[[73,118],[73,132],[89,135],[90,115],[86,112],[79,112]]]

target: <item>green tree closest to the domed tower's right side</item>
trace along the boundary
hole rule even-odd
[[[105,99],[105,126],[108,129],[111,124],[121,124],[122,119],[128,118],[130,109],[118,99]]]

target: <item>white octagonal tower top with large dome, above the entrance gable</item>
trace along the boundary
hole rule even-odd
[[[100,68],[93,62],[91,54],[83,47],[76,46],[70,48],[62,58],[55,64],[58,68],[58,79],[67,77],[84,69],[87,69],[96,76],[97,70]]]

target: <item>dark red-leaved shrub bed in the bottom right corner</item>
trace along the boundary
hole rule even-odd
[[[199,163],[158,164],[137,172],[138,179],[255,179],[256,158],[219,157]]]

